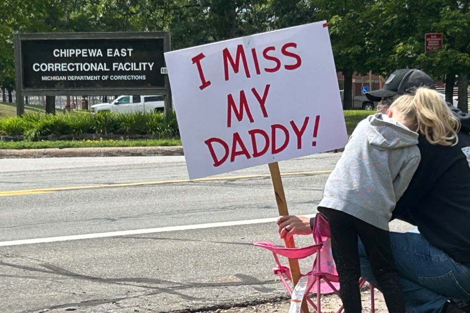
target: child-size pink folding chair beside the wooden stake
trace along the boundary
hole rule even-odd
[[[276,266],[273,268],[274,274],[281,278],[285,289],[292,295],[293,287],[291,287],[290,269],[282,265],[279,256],[289,259],[304,259],[313,256],[313,266],[307,273],[301,273],[301,277],[307,277],[307,285],[305,289],[304,299],[317,313],[321,313],[321,297],[323,294],[334,293],[339,296],[338,273],[333,261],[331,253],[331,236],[329,232],[329,224],[326,218],[317,213],[315,223],[313,224],[313,241],[314,245],[299,248],[286,248],[276,246],[268,242],[256,242],[255,246],[268,249],[273,253]],[[359,287],[362,288],[365,280],[359,280]],[[374,308],[374,287],[370,285],[371,291],[371,313],[375,312]],[[315,302],[310,297],[315,297]],[[341,305],[336,313],[341,313],[343,306]],[[302,311],[301,311],[302,312]]]

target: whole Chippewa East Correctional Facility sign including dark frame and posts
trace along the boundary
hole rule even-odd
[[[24,95],[160,94],[171,103],[167,51],[169,32],[17,33],[17,111]]]

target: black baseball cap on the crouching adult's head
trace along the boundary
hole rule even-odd
[[[422,70],[402,68],[390,74],[382,89],[366,92],[366,97],[378,102],[383,98],[395,97],[410,89],[423,86],[435,89],[434,81]]]

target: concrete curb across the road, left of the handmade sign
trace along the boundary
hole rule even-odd
[[[183,153],[182,146],[0,150],[0,158],[93,157],[93,156],[183,156],[183,155],[184,153]]]

